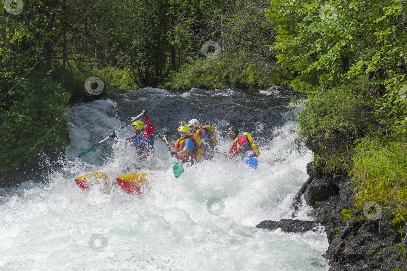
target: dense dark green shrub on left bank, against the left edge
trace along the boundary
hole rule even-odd
[[[21,80],[13,98],[13,105],[0,111],[1,173],[31,164],[41,153],[63,153],[67,144],[64,109],[70,94],[52,72]]]

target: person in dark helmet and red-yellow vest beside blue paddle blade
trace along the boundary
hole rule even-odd
[[[227,133],[229,138],[233,140],[229,150],[229,155],[231,157],[241,156],[243,159],[248,156],[256,157],[260,155],[257,145],[253,143],[254,140],[248,132],[239,135],[239,129],[236,126],[230,126]]]

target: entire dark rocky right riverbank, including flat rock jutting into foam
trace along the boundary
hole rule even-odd
[[[319,223],[327,233],[329,248],[323,256],[329,260],[331,271],[407,270],[407,225],[397,231],[393,227],[394,215],[377,204],[356,208],[346,174],[325,175],[310,163],[307,173],[313,180],[304,198],[313,207],[315,221],[262,221],[258,228],[303,232]]]

